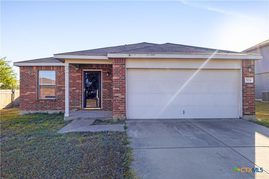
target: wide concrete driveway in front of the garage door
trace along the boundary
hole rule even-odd
[[[128,120],[144,178],[269,178],[269,129],[246,120]],[[234,172],[235,167],[263,172]]]

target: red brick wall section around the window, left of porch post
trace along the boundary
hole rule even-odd
[[[38,71],[55,71],[55,99],[38,99]],[[20,111],[65,110],[65,74],[63,66],[20,67]]]

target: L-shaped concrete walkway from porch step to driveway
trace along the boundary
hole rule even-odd
[[[65,132],[99,132],[99,131],[124,131],[124,124],[115,124],[115,125],[93,125],[91,124],[95,119],[75,119],[61,130],[58,133]]]

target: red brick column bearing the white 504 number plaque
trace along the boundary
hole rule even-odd
[[[242,60],[243,119],[256,119],[255,116],[255,60]],[[250,66],[252,72],[247,68]],[[246,83],[245,77],[253,78],[253,83]]]

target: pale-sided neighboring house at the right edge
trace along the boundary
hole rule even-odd
[[[263,55],[263,59],[255,60],[255,99],[261,100],[261,92],[269,92],[269,40],[242,52]]]

